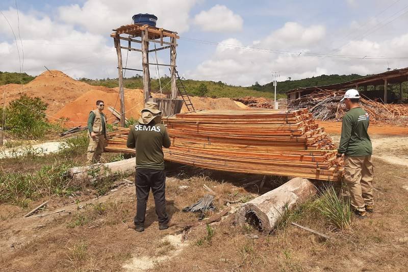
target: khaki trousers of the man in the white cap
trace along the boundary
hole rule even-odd
[[[365,211],[365,205],[373,205],[373,164],[370,156],[345,156],[344,181],[350,191],[351,206]]]

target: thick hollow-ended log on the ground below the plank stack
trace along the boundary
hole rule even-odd
[[[293,178],[285,184],[243,204],[235,222],[246,222],[265,232],[271,232],[285,212],[317,193],[315,185],[305,178]]]

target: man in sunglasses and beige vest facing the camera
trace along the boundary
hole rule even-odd
[[[89,145],[87,152],[87,165],[99,162],[100,155],[104,152],[106,139],[106,117],[102,113],[105,103],[102,100],[96,101],[96,110],[89,113],[88,137]]]

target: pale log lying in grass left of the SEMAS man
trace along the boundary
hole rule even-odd
[[[107,177],[113,173],[134,172],[136,167],[136,158],[124,159],[108,164],[94,164],[90,166],[73,167],[68,169],[67,173],[73,181],[96,180],[97,178]]]

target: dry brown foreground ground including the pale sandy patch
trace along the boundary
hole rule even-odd
[[[373,138],[375,156],[406,156],[406,136]],[[0,270],[406,271],[408,165],[378,157],[374,164],[375,212],[366,220],[353,220],[351,228],[341,232],[335,231],[311,204],[300,206],[271,234],[235,226],[233,214],[210,228],[198,226],[186,233],[172,226],[159,231],[150,196],[146,230],[137,233],[126,226],[135,212],[133,184],[122,184],[98,199],[87,191],[70,198],[53,197],[39,214],[64,211],[43,217],[24,219],[22,215],[29,208],[2,204]],[[259,176],[246,175],[246,181],[239,181],[245,175],[173,165],[167,169],[166,199],[172,223],[198,220],[198,214],[182,212],[182,208],[207,193],[203,184],[217,193],[214,204],[220,211],[226,207],[225,199],[246,202],[285,181],[274,180],[258,192],[257,185],[244,188],[243,183]],[[31,203],[30,208],[45,200],[48,198]],[[326,233],[330,239],[290,225],[291,221]]]

